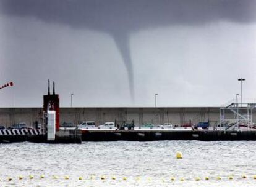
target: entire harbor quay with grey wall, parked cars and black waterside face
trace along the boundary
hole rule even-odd
[[[235,107],[236,103],[224,108],[59,108],[59,129],[54,128],[54,132],[46,127],[50,113],[45,117],[43,108],[0,108],[0,124],[6,129],[0,130],[0,141],[256,140],[254,105],[240,107],[240,113]],[[84,122],[95,126],[78,126]],[[114,127],[103,125],[111,123]],[[25,124],[26,128],[17,124]]]

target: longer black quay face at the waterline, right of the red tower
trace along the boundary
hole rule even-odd
[[[155,141],[155,140],[256,140],[256,131],[224,130],[83,130],[82,141]]]

